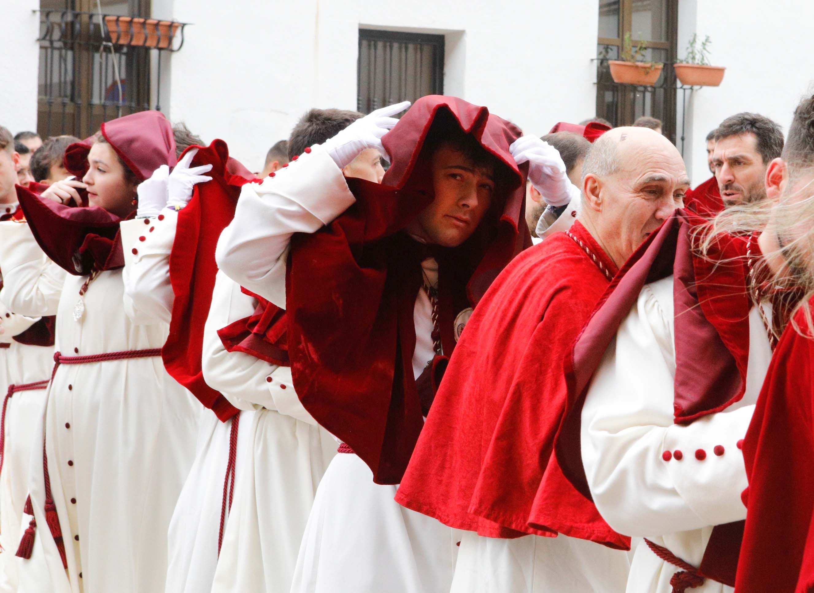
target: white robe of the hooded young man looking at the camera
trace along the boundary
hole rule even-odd
[[[234,221],[217,245],[221,270],[285,307],[287,248],[294,232],[319,230],[353,204],[341,170],[320,146],[260,185],[243,186]],[[415,375],[432,358],[431,306],[415,305]],[[337,455],[320,482],[292,593],[446,593],[457,556],[453,529],[393,500],[352,454]]]

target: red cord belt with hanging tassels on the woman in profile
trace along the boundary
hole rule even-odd
[[[51,380],[56,375],[56,370],[60,364],[88,364],[90,362],[108,362],[113,360],[126,360],[129,358],[151,358],[153,356],[160,356],[160,348],[149,348],[143,350],[121,350],[120,352],[107,352],[104,354],[88,354],[85,356],[63,356],[59,351],[54,353],[54,371],[51,372]],[[56,505],[50,490],[50,477],[48,475],[48,457],[46,455],[46,443],[43,437],[42,441],[42,474],[45,480],[46,490],[46,524],[50,530],[51,537],[54,538],[59,556],[62,558],[62,565],[68,568],[68,560],[65,557],[65,543],[62,538],[62,529],[59,526],[59,516],[56,513]],[[37,529],[37,521],[33,517],[34,509],[31,503],[31,495],[25,501],[23,512],[26,515],[32,515],[31,521],[28,523],[28,528],[25,529],[23,537],[20,539],[20,547],[17,548],[16,556],[28,560],[31,558],[31,553],[34,549],[34,534]]]

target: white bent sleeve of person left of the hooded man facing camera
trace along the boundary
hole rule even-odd
[[[217,273],[212,305],[204,325],[204,380],[242,410],[265,407],[317,424],[305,411],[291,384],[291,369],[277,367],[243,352],[228,352],[217,330],[254,313],[256,301],[240,285]]]

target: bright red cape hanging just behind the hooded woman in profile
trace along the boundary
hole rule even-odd
[[[254,175],[230,158],[223,140],[198,148],[191,166],[212,165],[208,173],[212,181],[195,185],[189,204],[178,213],[169,255],[169,280],[175,298],[161,358],[173,379],[225,421],[239,410],[204,381],[204,323],[215,288],[217,239],[234,217],[240,187],[252,181]]]

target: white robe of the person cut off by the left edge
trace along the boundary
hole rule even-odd
[[[2,223],[7,224],[7,223]],[[2,230],[0,230],[2,232]],[[0,401],[7,398],[8,386],[50,379],[54,366],[53,346],[32,346],[15,342],[12,336],[24,332],[38,318],[12,313],[0,302]],[[0,593],[17,591],[17,559],[23,507],[28,497],[28,466],[37,419],[42,416],[46,390],[14,393],[7,399],[5,443],[0,470]],[[26,522],[27,525],[27,522]]]

